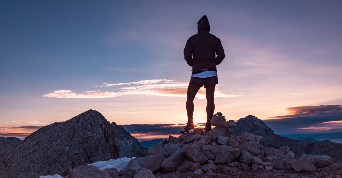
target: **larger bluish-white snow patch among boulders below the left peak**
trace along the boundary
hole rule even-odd
[[[135,157],[132,157],[134,159]],[[128,164],[128,162],[131,160],[131,158],[123,157],[123,158],[118,158],[118,159],[113,159],[113,160],[108,160],[108,161],[97,161],[95,163],[91,163],[88,165],[93,165],[101,170],[103,169],[109,169],[109,168],[116,168],[118,170],[121,170],[125,168]]]

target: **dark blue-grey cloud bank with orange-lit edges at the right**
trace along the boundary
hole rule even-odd
[[[342,129],[341,105],[297,106],[285,110],[288,115],[264,120],[276,134],[310,134]]]

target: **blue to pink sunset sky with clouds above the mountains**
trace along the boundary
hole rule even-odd
[[[215,112],[254,115],[280,135],[342,131],[341,1],[5,0],[0,136],[23,139],[89,109],[140,140],[179,133],[191,76],[183,49],[203,15],[226,55]]]

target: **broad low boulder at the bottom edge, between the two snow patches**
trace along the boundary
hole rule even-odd
[[[68,171],[68,178],[82,178],[82,177],[104,177],[111,178],[111,176],[104,170],[99,169],[93,165],[78,166]]]

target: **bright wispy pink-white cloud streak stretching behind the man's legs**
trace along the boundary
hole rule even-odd
[[[123,86],[127,85],[127,86]],[[134,86],[130,86],[134,85]],[[83,93],[74,93],[71,90],[55,90],[48,94],[43,95],[43,97],[49,98],[111,98],[111,97],[121,97],[124,95],[134,95],[134,94],[147,94],[147,95],[157,95],[165,97],[186,97],[187,87],[189,83],[174,82],[168,79],[153,79],[153,80],[141,80],[137,82],[129,83],[118,83],[118,84],[106,84],[98,85],[95,87],[111,87],[111,86],[123,86],[117,88],[118,91],[102,91],[102,90],[90,90],[84,91]],[[240,97],[242,94],[225,94],[220,89],[220,85],[216,85],[215,88],[215,98],[232,98]],[[196,98],[205,99],[205,89],[203,87],[198,91]]]

